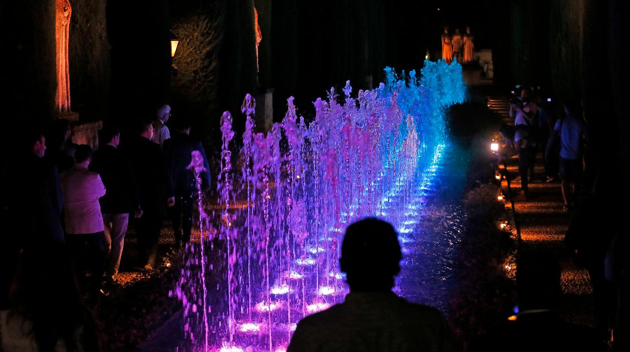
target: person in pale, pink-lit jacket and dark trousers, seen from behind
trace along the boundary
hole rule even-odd
[[[77,279],[83,284],[89,268],[88,291],[100,289],[105,258],[105,227],[99,198],[105,195],[101,176],[88,169],[92,148],[79,145],[74,154],[76,164],[61,173],[64,191],[66,242],[74,257]]]

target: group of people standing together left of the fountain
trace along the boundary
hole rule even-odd
[[[151,271],[159,264],[157,244],[168,214],[174,249],[190,241],[197,195],[196,178],[187,168],[192,151],[198,150],[205,162],[204,191],[210,186],[209,164],[202,144],[190,137],[189,120],[175,119],[171,137],[165,125],[170,110],[161,106],[154,120],[139,123],[129,135],[106,124],[99,131],[97,150],[72,143],[71,126],[64,119],[45,130],[26,128],[20,152],[2,173],[7,187],[0,215],[7,233],[13,234],[4,237],[0,256],[3,346],[23,343],[14,341],[19,334],[9,330],[27,324],[31,328],[26,331],[34,332],[30,344],[39,346],[34,350],[55,350],[59,344],[77,349],[69,345],[93,331],[89,319],[83,319],[89,314],[81,308],[82,299],[120,285],[118,270],[130,224],[138,254],[137,262],[129,264],[138,270]],[[59,302],[44,298],[49,295],[44,292],[57,288],[54,296],[63,295]],[[50,307],[42,311],[42,304]],[[55,319],[60,326],[53,328]],[[55,334],[59,339],[51,340]],[[77,350],[92,349],[83,345]]]

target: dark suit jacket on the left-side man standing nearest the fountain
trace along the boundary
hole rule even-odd
[[[201,174],[201,178],[202,186],[207,188],[210,186],[210,166],[201,142],[193,140],[189,135],[181,132],[176,132],[164,142],[164,157],[169,179],[176,193],[190,193],[197,190],[195,174],[188,169],[188,165],[192,161],[191,153],[193,150],[198,150],[203,156],[203,166],[206,171]]]

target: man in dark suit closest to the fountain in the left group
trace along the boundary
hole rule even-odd
[[[205,171],[202,178],[202,190],[210,187],[210,173],[208,159],[203,145],[190,137],[191,123],[186,118],[178,118],[175,122],[176,132],[164,142],[164,156],[168,168],[169,179],[175,193],[173,207],[173,232],[175,233],[175,247],[185,246],[190,241],[192,229],[193,200],[197,193],[197,179],[191,169],[193,150],[198,150],[203,156]]]

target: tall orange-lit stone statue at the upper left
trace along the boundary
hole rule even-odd
[[[55,13],[55,64],[57,71],[57,91],[55,112],[58,115],[71,115],[70,72],[68,65],[68,38],[72,8],[68,0],[57,0]]]

